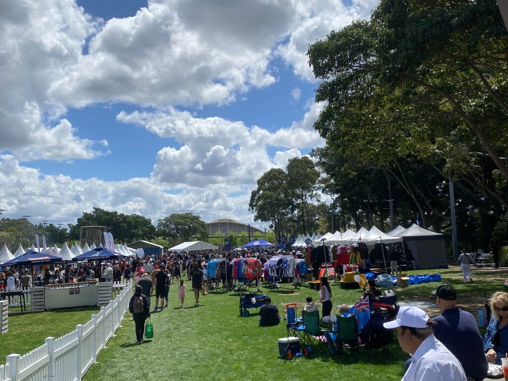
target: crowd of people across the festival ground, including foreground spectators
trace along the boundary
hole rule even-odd
[[[393,250],[392,250],[393,251]],[[199,253],[167,252],[164,255],[131,257],[121,261],[82,263],[79,267],[45,266],[41,269],[41,284],[73,283],[98,279],[104,282],[135,281],[135,293],[129,304],[136,326],[136,339],[140,343],[147,317],[153,311],[163,311],[168,307],[168,294],[171,284],[177,284],[177,296],[183,308],[186,296],[184,277],[192,281],[194,307],[200,306],[200,295],[206,295],[211,278],[207,276],[207,263],[214,258],[227,260],[227,271],[223,281],[229,287],[231,281],[232,261],[237,257],[258,258],[266,263],[274,255],[301,256],[299,251],[282,252],[266,251],[208,251]],[[394,256],[397,256],[395,254]],[[392,257],[396,258],[396,257]],[[459,262],[471,258],[466,253]],[[466,265],[466,263],[464,263]],[[464,281],[470,277],[465,267]],[[0,271],[0,284],[7,291],[16,288],[29,288],[32,282],[29,269],[21,266]],[[508,294],[495,293],[490,300],[492,319],[485,335],[480,335],[476,320],[467,311],[456,305],[457,293],[452,285],[443,284],[435,292],[436,304],[441,314],[430,319],[427,313],[418,307],[401,307],[396,320],[385,323],[387,329],[394,329],[400,347],[411,357],[406,362],[404,380],[483,380],[487,375],[488,363],[500,364],[501,358],[508,353]],[[329,278],[320,278],[319,299],[314,302],[307,297],[306,311],[322,308],[322,317],[329,316],[332,310],[332,289]],[[155,305],[151,310],[150,297],[155,297]],[[350,308],[341,305],[339,319],[351,316]],[[260,308],[260,326],[276,325],[281,320],[276,305],[271,299],[265,299]],[[467,345],[464,345],[467,343]]]

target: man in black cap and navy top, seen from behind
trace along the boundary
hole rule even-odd
[[[489,365],[474,316],[456,306],[457,292],[452,285],[441,284],[432,294],[441,310],[441,314],[432,319],[437,322],[434,336],[460,361],[467,377],[474,381],[483,380]]]

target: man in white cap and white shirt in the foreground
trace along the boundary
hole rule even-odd
[[[459,360],[432,333],[437,325],[418,307],[400,307],[397,318],[383,324],[397,330],[402,351],[411,355],[411,365],[402,381],[466,381]]]

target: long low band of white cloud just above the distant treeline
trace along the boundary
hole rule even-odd
[[[49,219],[51,223],[75,223],[83,211],[92,207],[138,213],[155,222],[173,212],[192,210],[211,221],[220,217],[252,223],[252,214],[245,205],[250,194],[228,195],[244,188],[218,184],[213,187],[187,187],[171,193],[149,178],[126,181],[104,181],[97,178],[72,179],[63,175],[44,175],[39,170],[22,166],[12,155],[0,155],[0,209],[4,217],[30,215],[33,223]]]

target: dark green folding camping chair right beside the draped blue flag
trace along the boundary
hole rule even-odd
[[[332,355],[344,352],[360,354],[356,316],[337,317],[336,330],[325,332],[328,349]]]

